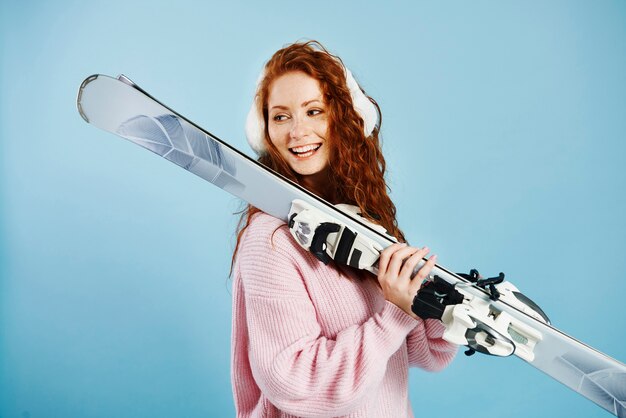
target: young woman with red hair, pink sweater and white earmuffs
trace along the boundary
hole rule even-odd
[[[377,106],[319,43],[266,64],[248,117],[259,161],[404,241],[384,180]],[[412,416],[408,367],[440,370],[457,347],[411,303],[436,256],[395,244],[379,274],[324,265],[280,220],[248,207],[233,255],[232,383],[241,417]]]

